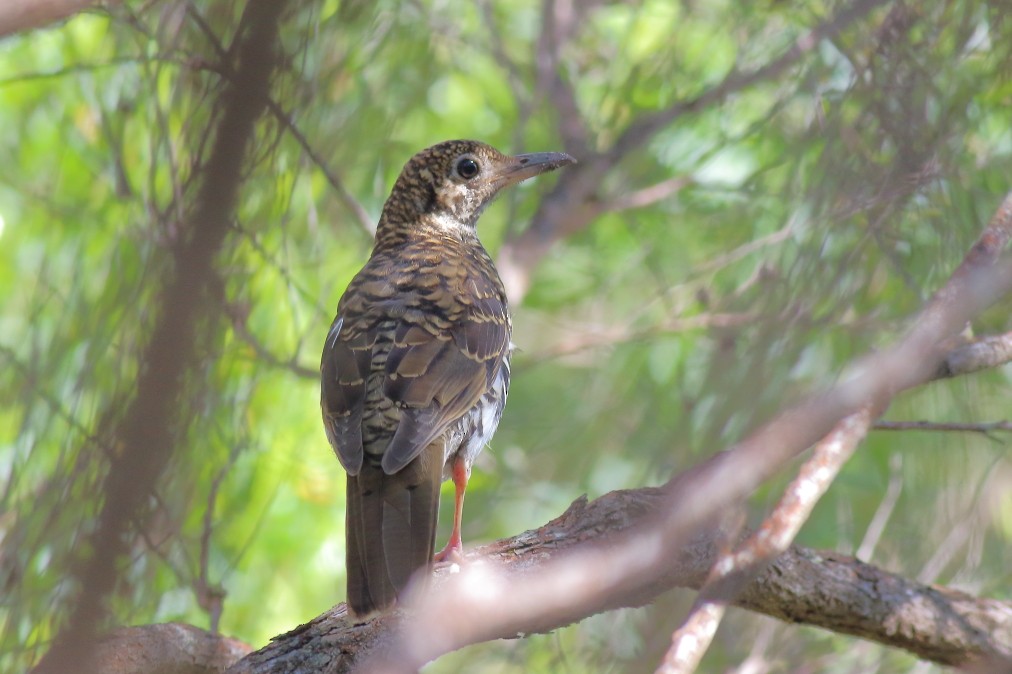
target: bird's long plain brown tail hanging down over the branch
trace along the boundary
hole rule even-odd
[[[412,575],[432,565],[442,442],[387,475],[368,457],[348,476],[348,608],[358,617],[392,606]],[[427,577],[427,574],[426,574]]]

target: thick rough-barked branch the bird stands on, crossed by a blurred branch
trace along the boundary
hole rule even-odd
[[[589,503],[578,500],[539,529],[470,553],[467,574],[495,579],[494,584],[486,582],[478,588],[492,595],[489,600],[494,604],[497,592],[508,593],[515,583],[536,577],[553,561],[571,558],[588,541],[606,537],[614,542],[622,533],[639,528],[664,506],[666,498],[663,490],[640,489],[612,492]],[[720,537],[714,529],[696,536],[674,551],[663,574],[630,579],[623,594],[602,598],[589,610],[551,617],[534,611],[522,625],[522,633],[547,631],[592,613],[641,606],[672,587],[699,588],[716,560]],[[449,566],[436,570],[432,588],[435,595],[460,575],[453,571]],[[788,622],[804,622],[905,648],[944,664],[965,662],[975,656],[1012,657],[1012,603],[922,585],[835,553],[791,546],[746,586],[734,603]],[[276,637],[228,672],[348,672],[369,655],[396,653],[395,628],[403,618],[404,612],[398,611],[365,624],[354,624],[340,604]],[[473,641],[508,639],[518,634],[521,630],[508,628],[476,633]]]

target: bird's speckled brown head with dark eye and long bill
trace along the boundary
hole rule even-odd
[[[446,141],[412,157],[384,206],[384,221],[403,227],[428,223],[440,228],[475,228],[479,216],[505,187],[574,164],[561,152],[504,155],[478,141]]]

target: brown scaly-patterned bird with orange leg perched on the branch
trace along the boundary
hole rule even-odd
[[[337,305],[320,363],[320,406],[347,473],[347,606],[398,602],[419,570],[459,561],[472,465],[499,425],[510,381],[506,291],[477,223],[503,190],[574,164],[446,141],[412,157],[384,204],[368,261]],[[439,487],[453,528],[437,555]]]

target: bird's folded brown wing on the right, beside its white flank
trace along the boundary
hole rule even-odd
[[[384,394],[402,411],[384,452],[388,475],[407,466],[474,407],[502,366],[510,333],[505,300],[491,287],[475,290],[449,314],[448,325],[411,322],[405,316],[397,327]]]

